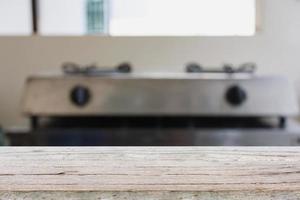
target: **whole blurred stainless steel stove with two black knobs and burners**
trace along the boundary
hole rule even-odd
[[[35,145],[298,145],[294,88],[255,66],[179,74],[67,64],[32,76],[23,111]]]

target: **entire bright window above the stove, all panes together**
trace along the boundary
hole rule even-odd
[[[0,0],[0,34],[251,36],[256,29],[256,0],[34,1],[37,9],[31,0]]]

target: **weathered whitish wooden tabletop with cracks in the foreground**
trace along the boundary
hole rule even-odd
[[[300,148],[0,148],[0,199],[300,199]]]

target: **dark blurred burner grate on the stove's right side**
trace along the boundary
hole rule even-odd
[[[205,69],[197,63],[190,63],[186,66],[187,73],[224,73],[224,74],[254,74],[256,71],[256,65],[254,63],[244,63],[239,67],[234,67],[230,64],[225,64],[220,69]]]

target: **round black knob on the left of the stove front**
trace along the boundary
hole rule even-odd
[[[85,86],[76,86],[71,90],[70,99],[74,105],[84,107],[90,102],[91,92]]]

